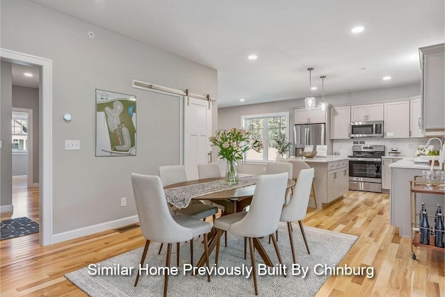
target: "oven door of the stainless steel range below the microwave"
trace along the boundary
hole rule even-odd
[[[382,159],[350,158],[349,176],[364,177],[366,179],[375,179],[373,182],[382,182]]]

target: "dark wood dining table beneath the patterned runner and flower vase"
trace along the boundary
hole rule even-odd
[[[247,178],[247,177],[245,177]],[[243,179],[243,177],[240,177],[240,179]],[[195,179],[195,180],[189,180],[187,182],[180,182],[177,184],[170,184],[168,186],[164,187],[164,190],[180,190],[181,188],[190,188],[189,186],[198,185],[200,186],[206,186],[207,184],[213,185],[217,181],[223,181],[224,182],[225,177],[216,177],[216,178],[209,178],[209,179]],[[293,179],[288,179],[286,184],[286,189],[289,190],[293,186],[295,186],[296,182]],[[246,186],[238,186],[236,188],[229,188],[224,189],[223,191],[216,191],[213,193],[207,193],[204,195],[192,195],[191,200],[208,200],[210,202],[222,205],[225,210],[223,211],[222,216],[225,216],[227,214],[234,214],[238,211],[243,211],[245,207],[250,205],[250,202],[252,202],[252,198],[254,195],[256,183],[246,185]],[[189,198],[190,199],[190,198]],[[271,198],[273,199],[273,198]],[[190,200],[190,201],[191,201]],[[213,251],[214,248],[216,248],[216,242],[217,242],[217,233],[215,230],[210,232],[209,234],[209,254]],[[254,248],[258,251],[259,255],[264,261],[264,264],[273,267],[274,264],[270,257],[268,256],[266,250],[264,250],[263,245],[261,244],[261,241],[259,239],[253,239]],[[205,257],[202,255],[200,257],[200,260],[197,262],[197,266],[203,266],[205,263]]]

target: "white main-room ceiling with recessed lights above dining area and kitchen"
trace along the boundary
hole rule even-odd
[[[315,96],[419,83],[445,35],[443,0],[33,1],[218,70],[220,107],[307,97],[307,67]]]

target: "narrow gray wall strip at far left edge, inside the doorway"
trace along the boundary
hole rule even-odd
[[[0,139],[3,146],[0,150],[0,205],[13,204],[13,166],[11,144],[11,120],[13,110],[13,72],[11,63],[1,61],[1,101],[0,101]]]

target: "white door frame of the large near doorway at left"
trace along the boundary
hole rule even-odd
[[[0,49],[2,61],[40,67],[39,86],[39,243],[48,246],[53,236],[53,158],[52,158],[52,61],[47,58]]]

